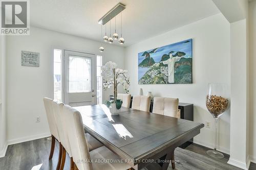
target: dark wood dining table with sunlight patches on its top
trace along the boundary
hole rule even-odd
[[[204,124],[122,107],[112,115],[105,105],[74,107],[84,129],[134,169],[175,167],[174,150],[200,133]]]

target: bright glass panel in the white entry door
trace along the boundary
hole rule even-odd
[[[69,56],[68,91],[91,92],[91,58]]]

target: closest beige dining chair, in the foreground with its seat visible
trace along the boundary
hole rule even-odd
[[[79,170],[92,169],[129,169],[131,166],[126,163],[120,163],[121,160],[117,155],[106,147],[97,148],[89,152],[89,145],[86,135],[84,135],[82,117],[79,111],[65,105],[63,112],[67,121],[68,136],[70,141],[71,152],[76,168]],[[102,162],[100,162],[102,160]],[[108,160],[117,160],[116,163]],[[98,162],[96,162],[98,161]],[[119,162],[119,163],[117,163]]]

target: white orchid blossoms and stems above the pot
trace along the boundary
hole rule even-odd
[[[117,97],[117,86],[122,85],[126,93],[129,92],[130,77],[127,70],[117,68],[117,64],[109,61],[101,66],[104,90],[114,86],[114,98]]]

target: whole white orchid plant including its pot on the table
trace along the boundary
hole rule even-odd
[[[130,77],[127,74],[128,71],[117,68],[117,64],[112,61],[106,62],[105,65],[101,67],[101,70],[104,90],[114,86],[114,100],[107,101],[106,106],[110,108],[113,115],[119,114],[122,101],[117,100],[117,86],[122,85],[126,93],[129,92]]]

